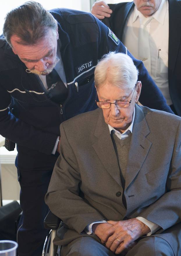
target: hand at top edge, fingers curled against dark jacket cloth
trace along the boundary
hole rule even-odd
[[[91,13],[99,20],[102,20],[105,17],[110,17],[110,13],[112,13],[112,10],[104,1],[97,1],[93,4]]]

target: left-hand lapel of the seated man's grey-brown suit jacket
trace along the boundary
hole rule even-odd
[[[94,136],[96,137],[96,142],[93,144],[95,152],[111,177],[113,177],[113,179],[116,180],[119,185],[121,185],[118,160],[113,147],[109,127],[104,121],[101,109]]]

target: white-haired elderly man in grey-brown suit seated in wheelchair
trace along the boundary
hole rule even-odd
[[[137,78],[110,52],[95,69],[99,108],[61,124],[45,196],[61,256],[181,255],[181,118],[137,105]]]

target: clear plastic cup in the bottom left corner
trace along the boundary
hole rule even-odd
[[[18,244],[10,240],[0,241],[0,256],[16,256]]]

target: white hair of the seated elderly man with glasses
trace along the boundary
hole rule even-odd
[[[123,89],[133,89],[138,80],[138,73],[131,57],[120,52],[109,52],[95,68],[95,87],[98,89],[109,83]]]

